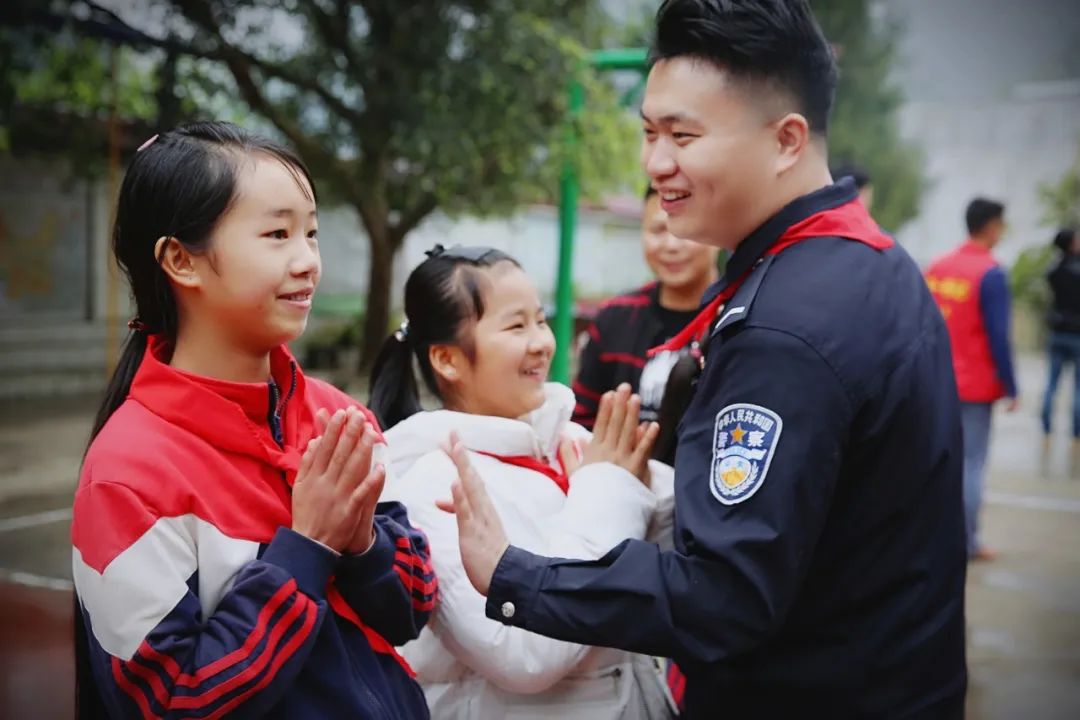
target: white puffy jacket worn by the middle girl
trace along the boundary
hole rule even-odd
[[[610,463],[579,468],[564,494],[548,476],[481,452],[556,463],[563,436],[588,438],[569,422],[573,394],[549,383],[540,409],[508,420],[449,410],[420,412],[386,433],[390,472],[384,500],[399,500],[431,543],[440,600],[420,637],[403,649],[434,720],[672,717],[653,658],[553,640],[507,627],[484,614],[485,599],[461,566],[450,497],[457,472],[440,449],[457,431],[484,479],[510,542],[541,555],[594,559],[627,538],[670,544],[672,470],[652,463],[651,487]],[[557,464],[554,464],[557,467]]]

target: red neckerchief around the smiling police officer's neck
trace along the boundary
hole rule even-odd
[[[764,257],[780,255],[792,245],[797,245],[810,237],[845,237],[869,245],[874,249],[885,250],[893,246],[893,240],[881,232],[866,207],[858,200],[852,200],[838,207],[815,213],[805,220],[799,220],[784,231],[777,242],[765,252]],[[679,330],[678,335],[664,344],[649,351],[649,356],[665,351],[679,351],[693,341],[701,341],[717,313],[734,296],[753,272],[753,268],[737,277],[720,290],[702,311],[690,321],[690,324]]]

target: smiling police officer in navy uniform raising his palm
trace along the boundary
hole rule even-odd
[[[675,339],[705,353],[675,549],[509,546],[451,445],[470,579],[494,620],[673,657],[689,718],[961,718],[948,335],[915,262],[832,184],[829,45],[804,0],[666,0],[653,60],[643,162],[671,230],[733,250]]]

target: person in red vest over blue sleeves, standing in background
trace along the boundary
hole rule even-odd
[[[1009,283],[991,255],[1004,232],[1004,205],[976,198],[966,219],[970,236],[930,266],[927,283],[945,316],[960,394],[968,555],[989,560],[994,553],[978,541],[978,511],[990,416],[999,399],[1009,399],[1010,412],[1018,406],[1009,342]]]

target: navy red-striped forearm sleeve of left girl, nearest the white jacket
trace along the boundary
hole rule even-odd
[[[428,539],[409,525],[405,506],[379,503],[375,544],[363,555],[346,555],[335,584],[365,625],[391,644],[415,640],[435,607],[438,583]]]

